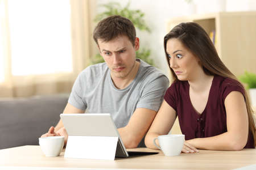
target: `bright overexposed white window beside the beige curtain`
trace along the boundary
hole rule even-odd
[[[8,11],[13,75],[72,72],[69,0],[9,0]]]

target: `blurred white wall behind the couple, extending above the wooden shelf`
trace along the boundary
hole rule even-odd
[[[130,8],[142,10],[145,14],[146,23],[151,28],[151,33],[140,32],[137,30],[137,36],[140,38],[141,46],[147,46],[151,49],[151,57],[154,59],[156,67],[168,75],[168,65],[164,56],[163,38],[167,33],[166,21],[172,17],[189,15],[192,13],[216,12],[220,11],[245,11],[256,10],[255,0],[194,0],[196,6],[194,11],[188,10],[188,3],[184,0],[98,0],[97,12],[103,10],[98,5],[119,2],[125,6],[130,2]],[[224,2],[224,3],[223,3]],[[219,3],[224,7],[218,9]]]

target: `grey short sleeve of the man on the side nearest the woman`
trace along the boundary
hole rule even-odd
[[[157,112],[168,86],[169,80],[165,75],[151,79],[144,87],[136,108],[147,108]]]

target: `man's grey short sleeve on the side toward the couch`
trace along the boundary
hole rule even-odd
[[[82,100],[82,95],[85,91],[85,80],[82,80],[83,74],[84,72],[80,73],[79,76],[77,76],[77,79],[73,84],[72,91],[68,99],[68,103],[73,105],[73,107],[77,109],[85,111],[85,109],[87,108],[87,104],[84,100]]]

